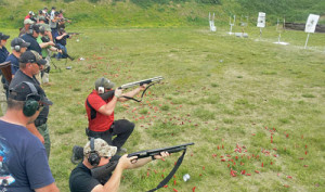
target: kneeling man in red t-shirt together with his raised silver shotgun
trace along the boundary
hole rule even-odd
[[[134,129],[134,124],[127,119],[114,119],[114,110],[117,102],[135,100],[134,95],[145,91],[153,84],[161,80],[162,77],[154,77],[141,81],[134,81],[113,90],[115,84],[107,78],[99,78],[95,81],[95,89],[86,100],[86,111],[88,115],[88,137],[101,138],[109,145],[117,146],[117,153],[126,152],[121,146],[128,140]],[[122,89],[136,87],[135,89],[122,93]],[[143,97],[143,94],[142,94]],[[135,100],[139,101],[139,100]],[[115,137],[116,136],[116,137]],[[113,137],[115,137],[113,139]],[[82,158],[82,148],[74,146],[72,162],[78,163]]]

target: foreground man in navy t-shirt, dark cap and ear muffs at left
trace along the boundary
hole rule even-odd
[[[10,89],[8,111],[0,117],[0,191],[58,192],[42,143],[26,126],[48,101],[32,84]]]

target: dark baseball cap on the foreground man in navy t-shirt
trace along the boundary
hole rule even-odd
[[[10,89],[8,97],[16,101],[26,101],[27,99],[34,99],[35,101],[39,101],[46,105],[53,104],[50,100],[48,100],[39,86],[29,86],[26,81],[22,81],[14,88]]]

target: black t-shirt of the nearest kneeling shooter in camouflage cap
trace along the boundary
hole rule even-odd
[[[118,161],[120,156],[115,155],[112,157],[110,161]],[[109,174],[106,178],[106,182],[112,177],[112,174]],[[70,192],[91,192],[91,190],[94,189],[94,187],[99,184],[105,184],[101,183],[99,180],[94,179],[91,176],[91,170],[86,167],[82,162],[78,164],[78,166],[72,171],[70,178],[69,178],[69,188]]]

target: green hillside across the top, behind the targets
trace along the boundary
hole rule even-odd
[[[237,22],[247,16],[255,24],[260,11],[266,13],[270,25],[283,17],[304,23],[310,13],[325,15],[325,2],[317,0],[1,0],[0,26],[21,27],[28,11],[53,5],[78,27],[204,26],[209,12],[216,12],[219,25],[227,24],[234,14]],[[320,23],[325,23],[325,16]]]

